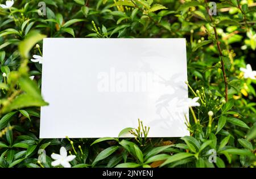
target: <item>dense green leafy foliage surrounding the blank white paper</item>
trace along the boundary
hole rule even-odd
[[[0,8],[0,167],[52,167],[61,146],[76,155],[74,168],[256,166],[256,80],[240,70],[255,70],[254,1],[218,2],[212,16],[196,0],[46,1],[46,16],[39,2]],[[200,103],[189,113],[191,136],[148,138],[139,121],[118,138],[39,139],[39,108],[48,103],[42,65],[30,59],[42,56],[44,37],[185,38],[189,96]]]

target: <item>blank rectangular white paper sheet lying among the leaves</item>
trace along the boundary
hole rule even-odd
[[[44,39],[40,138],[189,135],[186,80],[185,39]]]

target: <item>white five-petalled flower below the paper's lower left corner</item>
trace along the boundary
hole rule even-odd
[[[75,155],[69,155],[67,153],[67,150],[65,147],[60,148],[60,154],[52,154],[52,159],[55,161],[52,161],[52,166],[56,167],[57,165],[62,165],[65,168],[71,168],[71,164],[69,164],[69,161],[72,161],[75,159]]]

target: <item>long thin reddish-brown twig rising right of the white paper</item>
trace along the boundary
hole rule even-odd
[[[212,15],[210,15],[210,13],[209,13],[209,7],[208,7],[207,0],[205,0],[205,3],[207,3],[207,12],[210,16],[210,21],[214,22],[213,18],[212,18]],[[225,66],[224,66],[224,61],[223,61],[223,58],[222,58],[222,51],[221,51],[221,47],[220,47],[221,42],[218,40],[218,34],[217,34],[216,26],[214,26],[213,29],[214,29],[215,39],[217,40],[218,53],[220,54],[220,59],[221,59],[221,70],[222,70],[222,73],[223,73],[223,78],[224,78],[224,83],[225,83],[225,99],[226,99],[226,101],[228,101],[228,80],[226,79]]]

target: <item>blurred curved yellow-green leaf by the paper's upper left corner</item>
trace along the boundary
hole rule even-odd
[[[32,31],[28,33],[26,38],[19,43],[19,52],[22,58],[28,58],[28,53],[32,47],[39,41],[43,40],[46,35],[42,35],[38,31]]]

